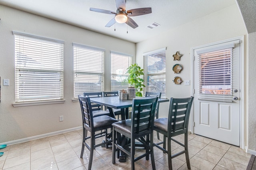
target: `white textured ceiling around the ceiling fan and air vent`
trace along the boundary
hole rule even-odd
[[[92,7],[115,12],[115,0],[0,0],[0,4],[137,43],[234,5],[236,0],[126,0],[126,10],[152,8],[151,14],[131,17],[139,25],[136,29],[120,23],[105,27],[114,15],[89,10]],[[160,26],[147,27],[154,22]]]

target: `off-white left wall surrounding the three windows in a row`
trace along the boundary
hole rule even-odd
[[[110,90],[110,50],[134,56],[135,44],[110,36],[49,20],[0,5],[0,76],[10,79],[10,86],[1,84],[0,143],[82,126],[80,105],[73,98],[73,46],[84,44],[106,49],[105,90]],[[86,20],[85,20],[86,22]],[[59,39],[64,43],[64,104],[13,107],[14,35],[19,31]],[[64,115],[64,121],[59,116]]]

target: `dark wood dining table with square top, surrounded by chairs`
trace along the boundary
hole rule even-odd
[[[146,99],[148,97],[137,97],[136,99]],[[90,98],[92,103],[100,104],[102,106],[108,107],[108,110],[110,111],[110,114],[112,117],[115,117],[114,115],[114,109],[121,109],[121,119],[125,120],[128,119],[128,113],[129,113],[129,107],[132,107],[132,100],[121,100],[119,99],[119,96],[113,96],[113,97],[103,97],[103,98]],[[158,99],[158,104],[162,102],[169,102],[169,99]],[[159,106],[158,106],[159,108]],[[159,109],[158,109],[159,110]],[[157,110],[157,111],[158,111]],[[125,139],[122,138],[122,142],[125,142]],[[119,162],[125,162],[126,156],[124,153],[120,153],[119,156]]]

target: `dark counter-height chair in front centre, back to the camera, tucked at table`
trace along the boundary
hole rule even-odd
[[[131,169],[134,170],[134,162],[146,156],[146,160],[151,157],[153,170],[156,169],[153,150],[154,136],[154,115],[158,98],[151,99],[133,99],[131,119],[126,119],[113,123],[113,142],[112,142],[112,163],[116,163],[116,148],[123,151],[131,157]],[[118,134],[116,134],[118,133]],[[116,135],[122,134],[130,139],[129,144],[122,146],[116,140]],[[141,143],[141,147],[146,149],[146,153],[138,157],[135,154],[135,139]],[[137,146],[137,145],[136,145]]]

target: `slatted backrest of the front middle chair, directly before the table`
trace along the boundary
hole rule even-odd
[[[132,100],[132,134],[153,131],[157,102],[158,97]]]

